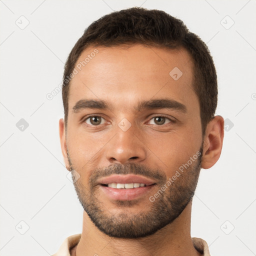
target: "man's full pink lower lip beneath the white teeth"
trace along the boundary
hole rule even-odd
[[[113,200],[133,200],[139,196],[142,196],[152,189],[153,185],[141,186],[134,188],[113,188],[108,186],[100,185],[104,194]]]

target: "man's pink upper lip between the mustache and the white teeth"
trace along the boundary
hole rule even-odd
[[[154,184],[154,180],[149,179],[144,176],[134,175],[134,174],[114,174],[107,177],[103,177],[98,179],[98,183],[100,184],[109,184],[109,183],[144,183],[145,185],[151,185]]]

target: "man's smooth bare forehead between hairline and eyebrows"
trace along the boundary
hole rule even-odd
[[[75,69],[69,83],[69,109],[82,98],[127,105],[141,99],[170,97],[198,105],[192,87],[193,61],[183,48],[142,44],[88,47],[76,61]]]

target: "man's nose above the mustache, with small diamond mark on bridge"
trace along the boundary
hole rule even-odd
[[[107,143],[106,157],[110,163],[127,164],[145,159],[146,146],[132,126],[126,131],[116,127],[115,135]]]

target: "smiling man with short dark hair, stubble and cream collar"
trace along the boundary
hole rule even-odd
[[[65,64],[61,149],[84,209],[62,255],[209,255],[190,236],[200,168],[218,160],[223,118],[207,46],[159,10],[93,22]]]

